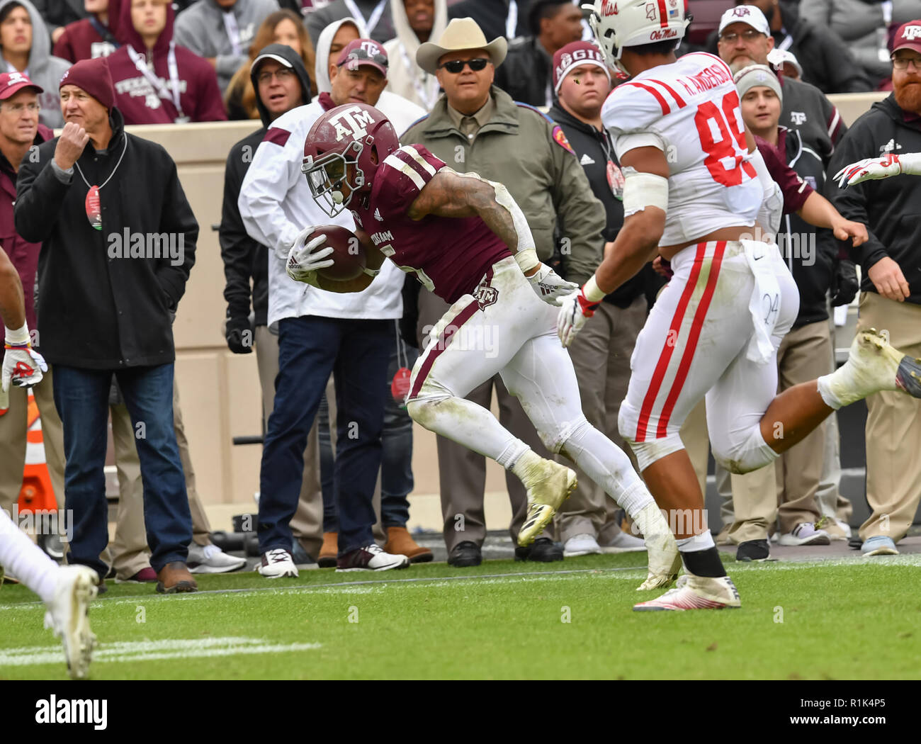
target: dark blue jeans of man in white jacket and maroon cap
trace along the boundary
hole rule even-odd
[[[317,316],[279,321],[275,403],[262,446],[260,552],[291,549],[288,524],[297,509],[304,448],[331,374],[338,408],[339,554],[374,541],[372,497],[380,469],[389,324]]]

